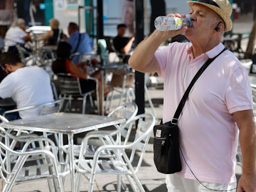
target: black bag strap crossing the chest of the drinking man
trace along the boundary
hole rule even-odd
[[[201,68],[197,71],[197,73],[194,75],[193,79],[191,80],[190,84],[188,85],[183,97],[181,98],[179,104],[178,104],[178,107],[174,113],[174,116],[173,118],[170,120],[170,122],[172,124],[177,124],[178,123],[178,117],[183,109],[183,106],[185,105],[185,102],[186,102],[186,99],[189,95],[189,92],[191,90],[191,88],[193,87],[195,81],[199,78],[199,76],[202,74],[202,72],[210,65],[210,63],[215,59],[217,58],[223,51],[225,51],[226,48],[224,48],[220,53],[218,53],[218,55],[216,55],[215,57],[213,58],[209,58],[202,66]]]

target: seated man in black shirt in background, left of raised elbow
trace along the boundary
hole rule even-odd
[[[118,52],[128,54],[131,49],[132,42],[134,41],[134,36],[131,38],[124,37],[123,35],[125,34],[125,31],[125,24],[117,25],[117,36],[113,39],[113,45]]]

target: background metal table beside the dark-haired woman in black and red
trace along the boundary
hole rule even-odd
[[[105,70],[125,68],[125,67],[128,67],[129,65],[127,63],[112,62],[105,65],[95,64],[95,66],[100,69],[102,79],[104,79],[103,77],[104,77]],[[104,115],[104,80],[101,80],[101,100],[102,100],[101,114]]]

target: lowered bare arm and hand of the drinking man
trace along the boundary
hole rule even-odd
[[[237,192],[256,192],[256,129],[252,110],[234,112],[239,128],[239,141],[242,152],[242,175]]]

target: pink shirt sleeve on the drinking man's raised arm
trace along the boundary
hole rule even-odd
[[[157,60],[159,67],[160,67],[160,72],[158,72],[158,75],[160,77],[163,77],[165,75],[165,69],[166,69],[169,48],[170,48],[170,45],[166,46],[164,48],[161,48],[161,49],[157,49],[154,53],[154,57]]]

